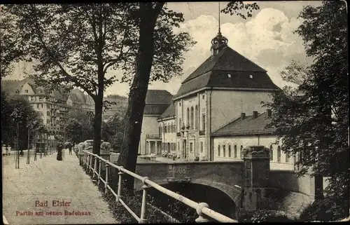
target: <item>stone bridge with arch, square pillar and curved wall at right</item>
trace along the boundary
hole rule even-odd
[[[295,171],[270,170],[269,163],[269,149],[251,146],[244,149],[243,161],[143,162],[137,163],[136,173],[163,186],[178,182],[209,186],[228,196],[239,210],[268,208],[297,215],[315,199],[320,183],[311,173],[297,177]],[[134,186],[139,191],[142,184],[135,180]]]

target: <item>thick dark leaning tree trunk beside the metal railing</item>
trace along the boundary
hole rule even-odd
[[[153,63],[155,21],[163,5],[164,3],[157,3],[153,8],[151,2],[139,4],[139,51],[136,60],[136,72],[130,88],[123,144],[118,158],[118,165],[123,165],[124,168],[132,172],[136,170],[142,118]],[[125,175],[123,183],[124,189],[127,191],[124,194],[132,195],[134,178]]]

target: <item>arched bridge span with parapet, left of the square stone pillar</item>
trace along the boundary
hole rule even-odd
[[[153,182],[164,185],[172,182],[190,182],[211,186],[223,191],[235,204],[240,205],[243,186],[244,162],[147,162],[137,163],[138,175],[149,177]],[[135,189],[141,189],[141,182]]]

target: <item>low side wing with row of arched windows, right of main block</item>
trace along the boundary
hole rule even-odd
[[[281,151],[274,129],[267,128],[271,123],[272,111],[263,113],[252,111],[219,128],[211,134],[214,145],[214,161],[235,161],[243,159],[246,146],[263,145],[270,149],[270,168],[294,170],[295,157]]]

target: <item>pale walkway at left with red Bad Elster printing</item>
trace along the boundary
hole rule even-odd
[[[31,157],[27,165],[21,158],[19,170],[11,163],[14,157],[4,156],[3,161],[8,161],[3,164],[3,216],[9,224],[116,223],[97,186],[68,151],[64,161],[56,161],[53,154],[37,161]],[[37,201],[48,206],[36,207]],[[66,206],[56,206],[57,201]]]

